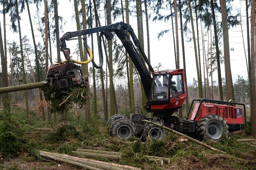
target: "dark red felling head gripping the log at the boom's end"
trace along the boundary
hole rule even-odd
[[[68,87],[70,85],[84,86],[86,79],[81,66],[70,62],[69,48],[60,48],[60,50],[66,58],[66,63],[51,64],[46,79],[50,80],[51,86],[54,83],[57,83],[61,92],[65,93],[68,92]]]

